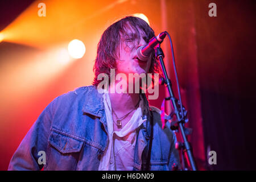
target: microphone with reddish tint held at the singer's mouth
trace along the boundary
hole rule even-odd
[[[137,49],[137,57],[138,59],[142,61],[147,61],[148,57],[150,56],[150,53],[152,49],[157,44],[160,44],[163,42],[163,39],[166,37],[166,32],[160,33],[158,36],[154,36],[153,38],[150,39],[148,44],[146,46],[140,46]]]

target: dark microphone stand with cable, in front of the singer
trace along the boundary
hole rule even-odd
[[[181,114],[183,112],[180,113],[180,111],[179,111],[180,109],[184,109],[184,107],[180,106],[179,104],[176,103],[177,99],[174,97],[174,93],[172,92],[172,85],[171,85],[171,81],[168,78],[166,67],[163,62],[164,53],[163,53],[162,48],[160,48],[160,44],[159,44],[159,47],[155,48],[155,55],[156,55],[156,58],[160,61],[162,71],[164,74],[164,83],[166,84],[166,86],[168,88],[168,92],[170,93],[170,97],[168,97],[167,100],[171,100],[171,103],[174,106],[174,114],[177,117],[177,126],[175,127],[175,129],[180,129],[181,138],[183,139],[181,148],[183,148],[184,153],[187,154],[188,159],[189,159],[189,164],[190,164],[192,170],[196,171],[197,168],[196,168],[195,160],[192,155],[192,148],[191,148],[191,146],[187,140],[186,134],[185,134],[186,132],[185,132],[185,128],[184,128],[184,123],[185,123],[184,114]],[[171,127],[171,129],[172,129],[172,127]]]

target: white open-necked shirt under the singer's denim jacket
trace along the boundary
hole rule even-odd
[[[139,95],[141,97],[141,95]],[[109,142],[101,158],[99,171],[131,171],[134,164],[134,150],[137,139],[136,129],[147,118],[142,118],[143,98],[130,121],[120,130],[113,131],[112,106],[108,93],[104,93],[104,106],[108,125]]]

